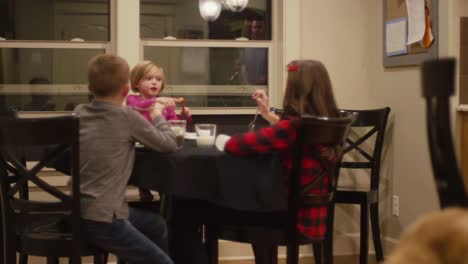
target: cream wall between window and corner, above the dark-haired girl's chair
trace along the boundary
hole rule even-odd
[[[302,58],[322,61],[342,108],[368,107],[368,7],[363,0],[302,1]]]

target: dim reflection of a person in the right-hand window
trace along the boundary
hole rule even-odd
[[[256,16],[246,20],[247,36],[250,40],[265,39],[265,20]],[[245,48],[240,54],[242,79],[247,84],[265,85],[268,80],[268,49]]]

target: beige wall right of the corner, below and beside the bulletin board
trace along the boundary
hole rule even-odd
[[[398,239],[404,227],[420,215],[437,210],[438,200],[432,178],[427,146],[425,104],[421,96],[420,68],[383,67],[382,1],[369,1],[372,21],[370,52],[374,54],[370,88],[371,100],[392,107],[389,144],[390,163],[384,164],[390,174],[392,192],[400,199],[400,216],[384,216],[384,236]],[[445,42],[439,38],[441,46]],[[387,197],[390,206],[390,197]],[[390,212],[390,210],[388,210]]]

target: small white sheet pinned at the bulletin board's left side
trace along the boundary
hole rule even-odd
[[[406,17],[387,21],[385,24],[385,54],[395,56],[408,53],[408,19]]]

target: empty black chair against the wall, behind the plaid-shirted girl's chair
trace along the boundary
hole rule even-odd
[[[379,181],[380,160],[390,107],[372,110],[341,110],[341,112],[354,115],[356,120],[351,125],[352,132],[350,132],[350,136],[346,139],[347,145],[343,150],[343,161],[339,165],[339,170],[370,170],[370,188],[358,189],[355,187],[344,188],[338,186],[336,190],[336,203],[360,205],[360,263],[367,263],[370,212],[375,255],[377,261],[383,261],[379,226]],[[356,130],[367,129],[367,131],[364,133],[361,130],[356,132],[353,128],[356,128]],[[372,143],[374,135],[375,141]],[[366,145],[373,146],[370,153],[366,151]],[[346,161],[346,157],[352,155],[357,155],[359,158],[353,157],[353,161]],[[363,159],[364,161],[362,161]],[[331,210],[330,217],[334,218],[334,210]],[[333,227],[330,229],[333,234]],[[329,238],[333,239],[333,235]],[[332,242],[328,243],[330,245],[333,244]]]

